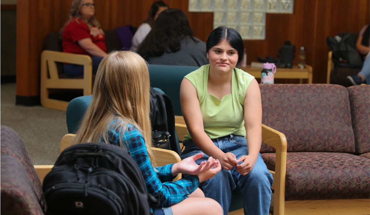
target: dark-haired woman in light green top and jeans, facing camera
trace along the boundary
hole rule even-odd
[[[269,214],[272,174],[259,153],[262,104],[256,79],[236,68],[243,57],[239,33],[218,27],[206,43],[209,64],[181,82],[181,110],[188,128],[181,158],[203,152],[197,163],[218,159],[222,170],[199,187],[227,215],[231,191],[243,194],[244,214]]]

